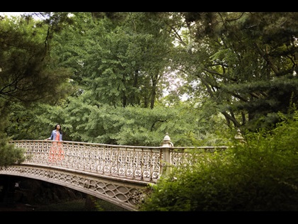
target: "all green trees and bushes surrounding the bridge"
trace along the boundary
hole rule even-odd
[[[142,209],[298,210],[297,18],[1,16],[0,167],[24,159],[9,140],[44,140],[56,123],[78,142],[159,146],[168,133],[175,146],[231,147],[161,179]],[[245,143],[234,142],[237,129]]]

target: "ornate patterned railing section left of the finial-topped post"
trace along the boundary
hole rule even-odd
[[[25,149],[23,164],[48,164],[125,179],[156,182],[161,174],[160,147],[105,145],[85,142],[59,142],[61,152],[52,152],[57,141],[16,140],[16,147]],[[55,155],[53,155],[55,154]]]

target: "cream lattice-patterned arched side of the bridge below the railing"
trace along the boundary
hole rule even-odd
[[[0,174],[39,179],[101,198],[129,211],[137,211],[142,189],[149,183],[139,180],[123,180],[88,172],[67,170],[62,167],[20,164],[2,167]]]

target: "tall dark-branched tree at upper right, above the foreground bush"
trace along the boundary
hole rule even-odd
[[[229,125],[269,128],[298,102],[298,13],[182,15],[193,42],[181,51],[180,71]]]

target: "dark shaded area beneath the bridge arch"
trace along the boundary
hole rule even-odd
[[[127,211],[46,181],[0,175],[0,211]]]

